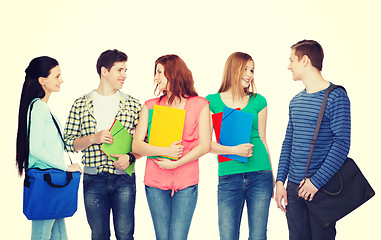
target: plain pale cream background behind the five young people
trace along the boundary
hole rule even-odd
[[[0,14],[1,239],[30,238],[22,213],[22,179],[15,167],[17,115],[24,70],[41,55],[56,58],[64,83],[49,105],[64,125],[73,101],[95,89],[96,60],[106,49],[127,53],[123,91],[142,103],[154,97],[154,61],[179,55],[193,72],[201,96],[215,93],[227,57],[249,53],[255,83],[268,102],[267,139],[277,171],[288,121],[288,104],[304,88],[287,70],[289,47],[314,39],[325,51],[323,76],[346,87],[352,111],[352,156],[376,196],[337,224],[337,239],[379,239],[380,180],[380,4],[363,1],[7,1]],[[74,156],[80,161],[79,155]],[[136,164],[136,239],[154,239],[144,194],[145,159]],[[218,239],[217,162],[200,160],[199,198],[189,239]],[[81,186],[82,187],[82,186]],[[90,239],[82,188],[78,211],[66,221],[70,239]],[[378,204],[377,204],[378,203]],[[241,239],[247,239],[244,213]],[[113,236],[114,238],[114,236]],[[284,214],[270,206],[268,239],[288,239]]]

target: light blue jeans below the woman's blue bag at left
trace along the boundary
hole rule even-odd
[[[65,219],[33,220],[32,240],[67,240]]]

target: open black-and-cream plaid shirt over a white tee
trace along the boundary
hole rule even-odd
[[[64,139],[68,152],[75,152],[73,146],[75,139],[96,133],[97,123],[94,117],[93,93],[94,91],[78,98],[71,107],[64,130]],[[119,111],[116,118],[131,135],[135,133],[140,110],[141,104],[139,100],[120,92]],[[101,144],[93,144],[82,150],[82,163],[86,167],[96,167],[98,173],[115,173],[112,159],[102,153],[100,148]]]

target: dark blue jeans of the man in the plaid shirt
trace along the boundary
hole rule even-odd
[[[83,193],[87,221],[94,240],[110,239],[110,211],[118,240],[134,239],[135,174],[84,174]]]

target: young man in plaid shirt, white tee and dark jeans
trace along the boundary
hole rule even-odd
[[[118,50],[103,52],[97,61],[100,83],[96,90],[78,98],[65,126],[67,151],[82,151],[84,201],[92,239],[110,238],[110,210],[118,240],[133,239],[136,198],[135,173],[124,170],[138,157],[116,155],[113,161],[101,152],[103,143],[112,143],[108,131],[118,119],[133,135],[141,104],[120,91],[126,80],[127,55]]]

